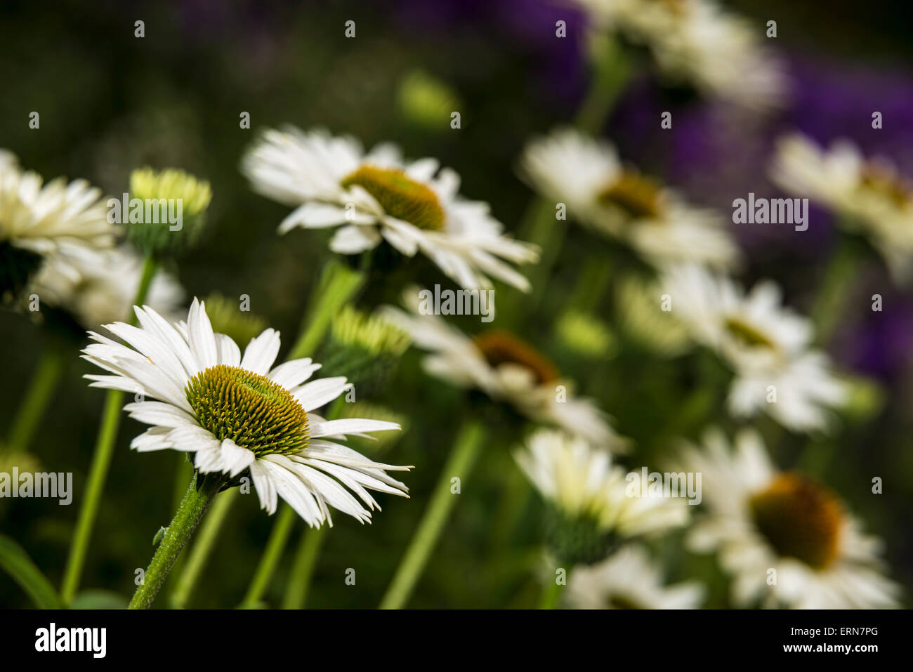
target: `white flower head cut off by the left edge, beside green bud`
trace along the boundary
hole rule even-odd
[[[20,289],[52,252],[114,244],[99,189],[63,177],[43,182],[0,150],[0,291]]]

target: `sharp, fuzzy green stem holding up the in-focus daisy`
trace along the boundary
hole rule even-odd
[[[155,599],[156,593],[168,578],[168,572],[171,572],[174,561],[190,540],[196,526],[200,524],[206,509],[209,508],[223,483],[224,477],[221,474],[208,474],[197,489],[196,474],[194,474],[194,478],[190,479],[190,485],[187,486],[181,506],[178,507],[171,525],[168,526],[159,547],[155,550],[152,562],[146,568],[142,583],[137,587],[136,593],[133,593],[133,599],[130,601],[128,609],[148,609],[152,606],[152,600]]]

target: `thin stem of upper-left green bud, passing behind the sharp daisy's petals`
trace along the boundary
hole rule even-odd
[[[152,284],[152,278],[157,267],[158,264],[153,257],[146,257],[142,267],[140,286],[136,290],[136,298],[133,299],[134,306],[142,305],[142,302],[146,300],[146,295],[149,293],[149,286]],[[132,308],[127,320],[131,324],[136,324],[136,315],[133,313]],[[105,404],[101,412],[99,425],[99,436],[95,442],[95,450],[92,453],[89,478],[86,480],[86,499],[82,500],[82,507],[79,509],[79,519],[76,523],[76,530],[73,533],[73,541],[69,547],[67,567],[64,570],[63,584],[60,588],[60,597],[64,604],[69,604],[79,589],[79,578],[82,574],[82,567],[86,562],[86,551],[89,550],[92,528],[99,512],[101,494],[105,488],[105,479],[108,478],[108,469],[114,452],[114,442],[117,440],[118,427],[121,425],[122,401],[123,393],[119,390],[109,390],[108,394],[105,395]]]

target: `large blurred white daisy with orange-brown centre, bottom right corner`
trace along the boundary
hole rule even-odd
[[[734,450],[719,431],[689,447],[703,474],[706,515],[690,532],[697,551],[716,551],[740,605],[798,609],[897,606],[899,586],[881,572],[881,542],[827,488],[778,471],[761,436],[743,431]],[[771,570],[775,571],[771,572]]]

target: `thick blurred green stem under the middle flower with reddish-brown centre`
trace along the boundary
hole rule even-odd
[[[451,492],[451,479],[460,478],[460,486],[466,485],[466,479],[476,461],[482,446],[484,432],[478,422],[468,422],[463,426],[456,443],[447,458],[446,465],[435,486],[435,491],[425,509],[425,515],[415,530],[415,536],[409,543],[394,574],[394,579],[381,600],[381,609],[401,609],[408,601],[415,588],[425,564],[434,551],[438,537],[450,515],[450,509],[456,504],[456,497]]]

